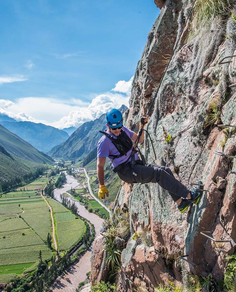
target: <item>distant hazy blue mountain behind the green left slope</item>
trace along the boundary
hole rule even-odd
[[[43,152],[49,151],[69,138],[65,131],[41,123],[0,121],[0,124]]]

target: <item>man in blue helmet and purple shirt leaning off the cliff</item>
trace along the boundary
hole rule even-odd
[[[147,124],[148,118],[147,116],[140,120],[139,131]],[[199,202],[202,195],[200,186],[190,191],[174,177],[169,167],[150,163],[143,165],[132,145],[132,141],[136,141],[138,134],[123,126],[123,117],[118,109],[110,109],[106,113],[106,126],[107,129],[104,132],[100,131],[103,136],[97,144],[98,195],[101,199],[105,198],[105,194],[109,196],[104,185],[104,165],[108,157],[114,172],[117,172],[121,180],[126,183],[158,183],[169,192],[181,213],[190,205]],[[138,142],[143,141],[144,131],[141,131]]]

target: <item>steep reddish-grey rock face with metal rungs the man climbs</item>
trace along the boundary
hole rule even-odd
[[[155,1],[157,5],[160,2]],[[133,130],[137,130],[140,116],[151,104],[166,67],[164,57],[168,59],[172,53],[191,5],[192,1],[187,0],[165,1],[148,35],[126,114],[126,125]],[[236,15],[236,7],[232,11]],[[157,154],[155,164],[168,166],[173,173],[175,170],[175,177],[189,189],[190,183],[202,180],[208,192],[203,193],[199,204],[181,214],[158,184],[123,184],[116,206],[125,203],[129,207],[132,235],[121,253],[120,291],[131,291],[139,285],[154,291],[168,279],[180,283],[183,275],[178,259],[184,254],[193,263],[201,263],[186,263],[188,271],[198,276],[212,273],[214,279],[221,279],[225,256],[235,251],[236,159],[214,151],[236,154],[234,128],[217,126],[236,125],[236,87],[229,87],[236,83],[236,57],[220,62],[236,55],[236,22],[228,17],[219,29],[218,21],[191,38],[187,38],[185,29],[147,126]],[[207,125],[210,116],[213,122]],[[165,141],[166,133],[172,136],[171,143]],[[153,160],[148,137],[142,152],[147,161]],[[144,230],[151,232],[152,246],[132,239],[134,232]],[[216,240],[231,241],[216,243],[201,232],[212,232],[208,235]]]

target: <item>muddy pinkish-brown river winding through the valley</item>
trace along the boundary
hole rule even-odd
[[[60,200],[60,194],[63,194],[67,192],[68,190],[79,185],[77,180],[71,176],[66,175],[67,183],[63,185],[63,188],[61,189],[55,189],[54,190],[54,197],[58,200]],[[99,232],[99,227],[102,225],[103,219],[97,216],[96,214],[89,213],[84,206],[79,204],[79,202],[69,197],[69,200],[71,202],[75,202],[76,206],[78,207],[79,215],[82,217],[88,219],[95,227],[96,235]],[[92,253],[92,248],[90,248],[83,256],[82,258],[72,265],[62,277],[59,277],[57,281],[55,282],[53,289],[51,291],[53,292],[75,292],[76,288],[78,287],[78,284],[86,279],[86,273],[91,270],[91,263],[90,263],[90,257]]]

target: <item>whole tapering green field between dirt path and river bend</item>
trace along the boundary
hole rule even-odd
[[[66,251],[81,238],[85,231],[85,225],[81,219],[76,219],[76,216],[58,201],[51,198],[47,200],[53,209],[59,250]]]

